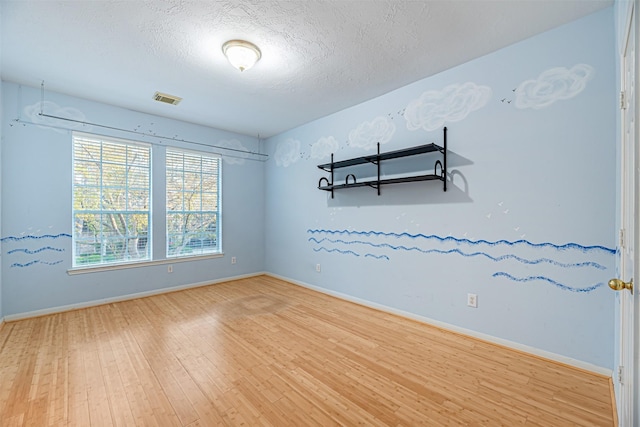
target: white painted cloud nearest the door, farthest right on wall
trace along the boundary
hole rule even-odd
[[[546,70],[537,79],[520,83],[515,90],[515,106],[539,110],[556,101],[573,98],[585,89],[593,72],[593,67],[587,64]]]

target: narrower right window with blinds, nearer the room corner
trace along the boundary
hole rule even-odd
[[[167,149],[167,257],[220,252],[220,157]]]

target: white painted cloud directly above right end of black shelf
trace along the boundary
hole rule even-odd
[[[484,107],[491,94],[489,86],[479,86],[473,82],[452,84],[440,91],[426,91],[405,109],[407,128],[432,131],[446,122],[458,122]]]

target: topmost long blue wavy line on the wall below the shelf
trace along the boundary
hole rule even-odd
[[[615,253],[616,253],[616,249],[611,249],[611,248],[607,248],[606,246],[600,246],[600,245],[583,246],[583,245],[580,245],[578,243],[565,243],[565,244],[562,244],[562,245],[558,245],[558,244],[550,243],[550,242],[533,243],[533,242],[530,242],[530,241],[524,240],[524,239],[514,240],[514,241],[496,240],[496,241],[492,242],[492,241],[484,240],[484,239],[471,240],[471,239],[460,239],[460,238],[453,237],[453,236],[441,237],[441,236],[436,236],[434,234],[426,235],[426,234],[410,234],[410,233],[389,233],[389,232],[383,232],[383,231],[349,231],[349,230],[322,230],[322,229],[309,229],[309,230],[307,230],[307,233],[310,233],[310,234],[331,234],[331,235],[346,234],[346,235],[367,236],[367,237],[369,237],[369,236],[396,237],[396,238],[408,237],[410,239],[437,240],[439,242],[456,242],[456,243],[463,243],[463,244],[468,244],[468,245],[472,245],[472,246],[477,246],[477,245],[489,245],[489,246],[526,245],[526,246],[529,246],[529,247],[532,247],[532,248],[554,248],[554,249],[558,249],[558,250],[561,250],[561,251],[562,250],[567,250],[567,249],[577,249],[577,250],[581,250],[583,252],[589,252],[589,251],[594,251],[594,250],[604,251],[604,252],[607,252],[607,253],[609,253],[611,255],[615,255]]]

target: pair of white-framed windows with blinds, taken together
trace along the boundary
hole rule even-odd
[[[151,157],[150,144],[73,134],[73,267],[152,260]],[[157,166],[166,179],[160,258],[220,254],[221,158],[167,148]]]

